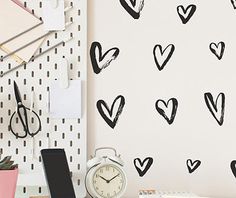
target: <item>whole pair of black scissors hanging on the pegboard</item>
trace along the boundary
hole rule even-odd
[[[31,137],[34,137],[41,130],[41,120],[40,120],[38,114],[35,111],[33,111],[32,109],[29,109],[28,107],[25,107],[23,105],[22,100],[21,100],[20,91],[19,91],[19,88],[18,88],[15,81],[14,81],[14,93],[15,93],[17,107],[16,107],[16,111],[12,114],[12,116],[10,118],[10,125],[9,125],[10,130],[16,136],[16,138],[26,138],[28,134]],[[37,128],[38,129],[34,132],[32,132],[29,128],[29,117],[28,117],[27,111],[29,111],[32,116],[35,116],[37,118],[37,121],[38,121],[38,127]],[[23,126],[24,133],[19,134],[19,133],[15,132],[13,130],[12,122],[14,120],[13,119],[14,117],[19,117],[20,122]]]

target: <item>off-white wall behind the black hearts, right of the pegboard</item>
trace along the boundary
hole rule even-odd
[[[139,189],[152,188],[236,197],[236,178],[230,169],[236,159],[236,10],[230,0],[145,0],[137,20],[118,0],[88,4],[88,49],[94,41],[101,43],[103,53],[112,47],[120,49],[117,59],[99,74],[93,72],[89,57],[89,154],[100,146],[113,146],[121,153],[129,180],[126,197],[137,197]],[[176,8],[189,4],[195,4],[197,10],[184,25]],[[209,44],[220,41],[226,47],[218,60]],[[154,62],[156,44],[175,45],[162,71]],[[214,99],[220,92],[225,94],[222,126],[206,106],[206,92]],[[112,129],[99,114],[96,102],[103,99],[110,106],[118,95],[123,95],[126,103]],[[155,103],[172,97],[179,105],[169,125]],[[154,160],[143,177],[133,164],[138,157]],[[187,159],[201,161],[192,174]]]

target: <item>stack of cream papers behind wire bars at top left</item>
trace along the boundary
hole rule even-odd
[[[16,0],[14,0],[16,1]],[[19,3],[19,2],[18,2]],[[7,20],[6,20],[7,19]],[[41,21],[32,15],[30,12],[23,9],[21,6],[13,2],[12,0],[1,1],[0,6],[0,43],[12,38],[13,36],[41,23]],[[21,46],[29,43],[30,41],[44,35],[43,26],[40,25],[35,29],[17,37],[16,39],[6,43],[0,48],[5,53],[10,53]],[[28,62],[30,58],[37,51],[44,39],[33,43],[32,45],[18,51],[14,59],[17,62]],[[1,55],[5,55],[2,54]]]

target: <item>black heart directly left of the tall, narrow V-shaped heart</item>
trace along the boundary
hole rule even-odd
[[[169,103],[172,104],[172,110],[171,110],[171,115],[168,117],[166,115],[166,111],[163,110],[163,108],[160,107],[161,104],[164,104],[164,108],[166,108],[167,110],[170,108],[169,107]],[[157,100],[156,101],[156,110],[158,111],[158,113],[163,116],[165,118],[165,120],[168,122],[168,124],[172,124],[174,122],[175,119],[175,115],[177,112],[177,108],[178,108],[178,101],[176,98],[171,98],[167,101],[167,103],[164,100]]]

